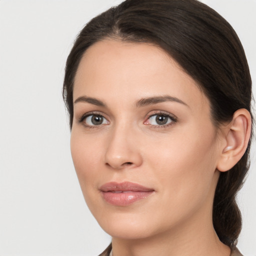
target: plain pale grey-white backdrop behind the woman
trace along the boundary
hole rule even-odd
[[[61,98],[65,59],[120,0],[0,0],[0,255],[97,255],[110,242],[84,203]],[[203,0],[234,27],[256,81],[256,0]],[[254,93],[255,94],[255,93]],[[238,248],[255,256],[256,155],[238,195]]]

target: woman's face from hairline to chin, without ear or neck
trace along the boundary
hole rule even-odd
[[[169,55],[97,42],[78,66],[73,101],[74,167],[106,232],[142,238],[211,221],[219,138],[208,99]]]

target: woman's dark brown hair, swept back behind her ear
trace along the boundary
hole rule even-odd
[[[80,59],[97,41],[115,39],[152,43],[164,49],[198,84],[210,101],[218,127],[233,113],[250,113],[251,78],[243,47],[231,25],[197,0],[126,0],[92,18],[78,34],[68,55],[63,98],[73,119],[73,84]],[[241,230],[236,193],[248,171],[250,141],[241,159],[221,172],[213,200],[212,220],[219,239],[231,249]]]

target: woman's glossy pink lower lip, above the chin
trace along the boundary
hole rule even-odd
[[[123,191],[114,193],[111,191],[101,191],[101,194],[106,202],[113,205],[125,206],[148,197],[152,192],[153,191]]]

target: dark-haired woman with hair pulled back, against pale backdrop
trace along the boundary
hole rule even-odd
[[[93,18],[63,96],[100,255],[241,255],[251,79],[231,26],[197,0],[126,0]]]

